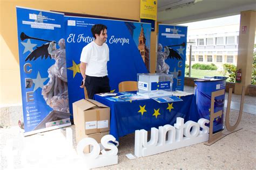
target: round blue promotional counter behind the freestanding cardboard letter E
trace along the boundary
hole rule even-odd
[[[211,97],[212,92],[222,90],[226,88],[227,77],[205,76],[204,79],[194,80],[194,95],[196,97],[196,103],[199,113],[199,118],[205,118],[210,120],[211,115]],[[222,115],[217,117],[213,121],[213,133],[219,132],[224,129],[224,104],[225,104],[225,93],[224,95],[217,96],[214,99],[214,112],[222,111]]]

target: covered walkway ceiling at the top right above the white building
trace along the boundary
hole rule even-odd
[[[157,20],[182,24],[239,15],[247,10],[256,10],[255,0],[158,0]]]

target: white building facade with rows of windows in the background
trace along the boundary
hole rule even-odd
[[[239,24],[214,26],[202,29],[188,30],[186,50],[186,64],[190,61],[190,47],[192,47],[191,63],[214,63],[218,70],[223,70],[223,64],[237,65]]]

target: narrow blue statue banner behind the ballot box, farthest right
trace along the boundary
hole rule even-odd
[[[173,75],[172,90],[184,89],[187,27],[159,24],[157,73]]]

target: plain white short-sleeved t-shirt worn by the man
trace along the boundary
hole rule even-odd
[[[83,48],[80,61],[86,63],[86,75],[95,77],[106,76],[107,61],[109,61],[109,47],[106,43],[99,46],[92,41]]]

